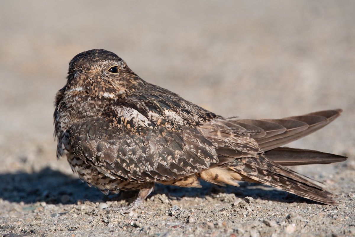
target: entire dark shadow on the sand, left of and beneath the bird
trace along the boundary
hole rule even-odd
[[[103,200],[132,201],[135,192],[123,192],[123,195],[105,197],[98,189],[82,183],[60,171],[47,167],[33,173],[3,173],[0,175],[0,198],[9,202],[31,204],[46,202],[49,204],[73,204],[78,200],[102,202]],[[183,197],[214,197],[218,193],[234,193],[236,198],[252,197],[254,199],[272,200],[277,202],[316,203],[296,195],[265,186],[263,184],[241,182],[240,187],[221,187],[201,180],[202,188],[182,188],[156,184],[151,195],[166,194],[170,199],[181,200]]]

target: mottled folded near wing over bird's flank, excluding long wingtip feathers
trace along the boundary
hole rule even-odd
[[[175,128],[141,106],[116,104],[75,123],[72,152],[108,177],[142,183],[179,179],[218,162],[212,143],[196,128]]]

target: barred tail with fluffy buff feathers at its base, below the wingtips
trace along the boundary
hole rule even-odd
[[[274,188],[293,193],[316,202],[336,205],[334,195],[323,189],[323,185],[263,155],[241,158],[233,162],[203,170],[197,174],[203,180],[225,186],[239,186],[237,181],[264,183]]]

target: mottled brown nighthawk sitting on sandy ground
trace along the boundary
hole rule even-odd
[[[281,147],[340,115],[326,110],[282,119],[224,118],[143,81],[116,54],[76,55],[55,98],[57,158],[105,194],[139,190],[136,208],[154,183],[201,187],[199,178],[238,186],[264,183],[324,204],[337,204],[321,184],[286,166],[328,164],[345,156]]]

